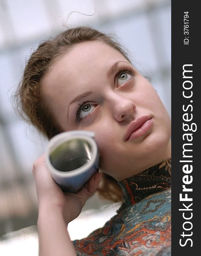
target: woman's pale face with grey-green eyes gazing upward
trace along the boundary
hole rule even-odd
[[[42,86],[63,131],[95,132],[100,169],[116,180],[170,157],[166,108],[152,85],[109,45],[75,45]]]

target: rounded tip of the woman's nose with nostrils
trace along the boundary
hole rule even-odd
[[[134,118],[136,105],[131,99],[118,97],[113,99],[112,103],[112,112],[117,121],[121,122],[128,118]]]

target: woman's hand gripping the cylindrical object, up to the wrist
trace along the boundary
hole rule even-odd
[[[63,192],[47,169],[44,154],[34,162],[32,172],[36,185],[39,215],[41,211],[60,210],[66,224],[78,217],[86,200],[94,194],[101,179],[101,174],[96,172],[78,193]]]

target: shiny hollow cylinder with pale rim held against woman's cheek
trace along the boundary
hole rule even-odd
[[[67,131],[53,137],[46,148],[46,164],[63,191],[77,193],[99,168],[94,132]]]

